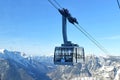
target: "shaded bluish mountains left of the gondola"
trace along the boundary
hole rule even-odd
[[[1,49],[0,80],[50,80],[47,73],[54,69],[51,60],[52,57],[29,57]]]

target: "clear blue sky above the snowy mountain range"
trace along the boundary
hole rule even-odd
[[[116,0],[57,0],[111,54],[120,54],[120,10]],[[61,15],[47,0],[0,0],[0,48],[52,55],[62,41]],[[68,39],[86,54],[102,54],[72,24]]]

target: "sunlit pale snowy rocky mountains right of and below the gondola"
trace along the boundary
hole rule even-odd
[[[52,80],[120,80],[119,56],[86,56],[86,62],[58,66],[49,76]]]

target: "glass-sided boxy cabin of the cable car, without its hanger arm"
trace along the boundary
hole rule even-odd
[[[84,48],[78,46],[55,47],[54,64],[56,65],[74,65],[85,60]]]

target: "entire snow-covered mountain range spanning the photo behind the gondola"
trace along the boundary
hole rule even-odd
[[[56,66],[52,56],[0,50],[0,80],[120,80],[120,56],[87,55],[85,63]]]

